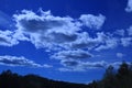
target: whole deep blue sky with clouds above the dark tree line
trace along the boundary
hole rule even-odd
[[[132,62],[132,0],[1,0],[0,73],[87,84]]]

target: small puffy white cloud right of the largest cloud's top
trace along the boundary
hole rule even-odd
[[[81,14],[79,20],[82,22],[85,26],[88,26],[89,29],[99,30],[103,25],[106,16],[102,14],[99,15]]]

